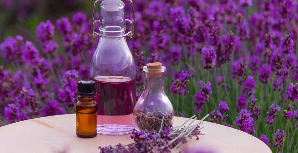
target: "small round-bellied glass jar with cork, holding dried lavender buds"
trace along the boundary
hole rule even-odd
[[[134,123],[139,130],[159,131],[170,126],[174,120],[173,106],[164,92],[164,71],[162,63],[149,63],[143,67],[145,87],[134,107]]]

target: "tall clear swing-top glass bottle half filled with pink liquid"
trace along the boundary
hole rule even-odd
[[[94,21],[95,7],[100,4],[100,19]],[[94,3],[91,33],[100,36],[90,64],[90,78],[96,83],[97,133],[122,135],[133,131],[133,110],[136,104],[136,67],[125,36],[134,33],[133,22],[125,19],[121,0],[97,0]],[[98,22],[99,33],[94,31]],[[131,31],[125,33],[126,22]]]

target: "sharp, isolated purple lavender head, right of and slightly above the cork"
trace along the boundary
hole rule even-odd
[[[210,46],[209,48],[204,47],[202,49],[202,61],[204,63],[204,69],[211,70],[213,68],[216,61],[216,52],[213,46]]]

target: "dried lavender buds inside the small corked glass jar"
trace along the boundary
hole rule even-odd
[[[146,107],[136,111],[134,115],[136,115],[135,123],[139,129],[147,129],[148,131],[158,131],[162,124],[162,118],[164,118],[163,127],[170,127],[174,117],[172,114],[162,113],[158,110],[155,112],[148,112]]]

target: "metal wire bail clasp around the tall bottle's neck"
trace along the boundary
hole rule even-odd
[[[120,37],[125,37],[125,36],[128,36],[130,35],[130,38],[132,38],[132,35],[134,34],[134,31],[135,31],[135,28],[136,28],[136,23],[134,21],[134,9],[133,9],[133,3],[132,3],[132,0],[122,0],[122,1],[129,1],[130,4],[131,4],[131,14],[132,14],[132,21],[129,20],[129,19],[125,19],[125,22],[129,22],[130,25],[131,25],[131,31],[129,31],[128,33],[125,33],[124,35],[119,35],[119,36],[106,36],[106,35],[102,35],[102,34],[99,34],[97,32],[95,32],[95,29],[94,29],[94,25],[96,22],[100,22],[100,20],[95,20],[94,21],[94,15],[95,15],[95,8],[96,8],[96,4],[99,2],[99,1],[103,1],[103,0],[96,0],[94,2],[94,7],[93,7],[93,13],[92,13],[92,21],[91,21],[91,35],[92,35],[92,38],[95,39],[95,36],[100,36],[100,37],[104,37],[104,38],[120,38]]]

